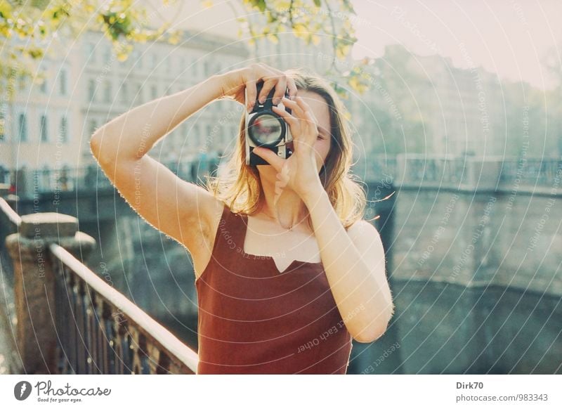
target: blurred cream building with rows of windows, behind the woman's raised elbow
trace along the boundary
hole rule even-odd
[[[136,44],[122,62],[100,32],[89,31],[66,53],[46,57],[41,84],[18,82],[5,103],[0,164],[7,169],[54,169],[93,163],[89,139],[103,124],[150,100],[239,67],[248,50],[215,34],[185,32],[177,45]],[[159,160],[192,159],[233,145],[241,105],[217,101],[203,108],[150,151]]]

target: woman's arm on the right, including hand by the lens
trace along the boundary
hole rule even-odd
[[[302,98],[283,98],[292,114],[274,107],[291,127],[294,154],[282,159],[266,148],[254,152],[277,169],[277,179],[292,188],[311,214],[320,258],[341,318],[358,342],[373,342],[386,331],[393,315],[386,260],[377,229],[367,221],[342,226],[318,175],[313,145],[318,128]]]

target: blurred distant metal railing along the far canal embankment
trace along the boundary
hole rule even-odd
[[[213,171],[217,162],[171,161],[164,166],[185,181],[194,182],[207,171]],[[483,166],[484,164],[484,166]],[[521,186],[549,187],[558,169],[562,167],[559,157],[487,157],[443,155],[372,155],[357,160],[353,173],[369,183],[391,177],[398,184],[429,186],[458,186],[478,183],[486,178],[495,178],[499,187],[508,188],[514,183]],[[1,175],[0,175],[1,179]],[[89,167],[61,169],[18,169],[4,179],[11,180],[20,197],[34,193],[48,193],[67,190],[112,189],[111,181],[96,165]]]

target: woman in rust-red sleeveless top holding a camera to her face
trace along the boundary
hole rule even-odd
[[[294,138],[288,159],[256,148],[269,164],[247,165],[243,119],[226,174],[207,188],[146,155],[204,105],[228,98],[251,110],[274,88],[273,104],[292,110],[274,108]],[[393,303],[384,249],[362,220],[351,146],[326,82],[263,64],[152,100],[93,134],[93,155],[131,207],[192,256],[197,373],[344,374],[352,339],[373,342],[386,331]]]

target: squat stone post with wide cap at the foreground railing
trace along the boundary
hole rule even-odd
[[[57,278],[48,247],[56,242],[80,260],[88,257],[96,241],[79,232],[78,220],[67,214],[35,213],[21,219],[20,233],[6,238],[13,261],[18,349],[25,373],[56,373]]]

